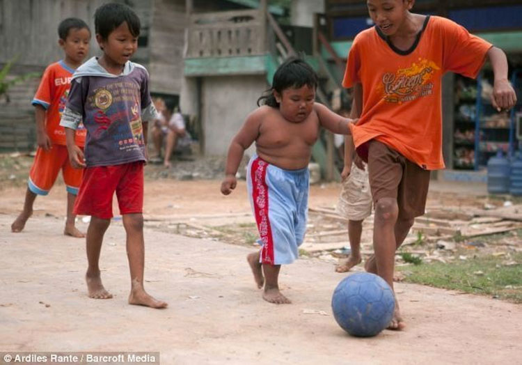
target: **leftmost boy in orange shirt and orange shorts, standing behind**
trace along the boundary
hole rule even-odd
[[[29,172],[24,209],[11,224],[11,231],[20,232],[24,229],[27,219],[33,214],[36,196],[49,194],[58,172],[62,170],[68,192],[67,221],[63,233],[82,238],[85,235],[74,225],[76,216],[72,208],[83,170],[73,169],[70,165],[65,130],[60,125],[60,118],[67,102],[72,74],[89,52],[90,29],[83,20],[68,18],[58,26],[58,36],[58,44],[62,47],[65,58],[47,66],[31,102],[35,106],[38,149]],[[85,135],[84,128],[76,134],[76,143],[81,148],[84,147]]]

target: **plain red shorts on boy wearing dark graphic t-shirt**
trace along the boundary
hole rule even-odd
[[[111,219],[116,192],[120,214],[143,212],[143,162],[87,167],[74,204],[74,214]]]

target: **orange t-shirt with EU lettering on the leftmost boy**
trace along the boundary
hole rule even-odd
[[[38,91],[34,95],[33,105],[41,105],[46,110],[45,127],[52,143],[65,145],[65,129],[60,125],[60,119],[67,102],[71,77],[74,69],[65,62],[58,61],[45,69]],[[74,141],[77,146],[85,145],[86,129],[84,125],[76,130]]]

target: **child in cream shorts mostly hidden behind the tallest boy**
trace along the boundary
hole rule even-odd
[[[359,106],[360,107],[360,106]],[[350,118],[358,118],[361,114],[355,102],[351,107]],[[350,254],[348,258],[339,260],[336,272],[347,272],[361,263],[361,235],[363,221],[372,214],[372,192],[368,181],[368,169],[358,155],[354,154],[354,139],[345,136],[345,165],[341,172],[342,187],[336,212],[348,219],[348,240]]]

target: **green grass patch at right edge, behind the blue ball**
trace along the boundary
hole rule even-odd
[[[503,257],[484,256],[454,263],[425,263],[420,266],[397,267],[409,274],[409,283],[459,290],[465,293],[499,297],[522,303],[522,253],[512,254],[518,265],[503,265]]]

